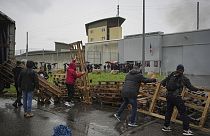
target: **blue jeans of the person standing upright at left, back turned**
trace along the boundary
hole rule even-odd
[[[32,108],[32,91],[23,91],[23,108],[24,112],[31,112]]]

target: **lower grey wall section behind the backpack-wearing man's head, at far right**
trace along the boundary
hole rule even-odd
[[[163,36],[163,72],[185,66],[187,75],[210,75],[210,30],[199,30]]]

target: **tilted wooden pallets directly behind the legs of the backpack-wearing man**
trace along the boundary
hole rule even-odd
[[[190,125],[203,131],[210,131],[205,127],[210,105],[210,90],[204,92],[190,92],[184,88],[181,93],[185,100],[187,113],[190,116]],[[165,118],[166,89],[158,84],[142,85],[138,96],[138,111],[157,118]],[[172,114],[172,121],[182,123],[177,109]]]

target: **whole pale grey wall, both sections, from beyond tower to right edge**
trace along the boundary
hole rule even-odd
[[[150,61],[146,72],[162,72],[168,74],[178,64],[185,66],[187,75],[210,75],[210,29],[174,34],[149,33],[145,37],[145,61]],[[152,53],[150,52],[150,44]],[[125,36],[119,42],[119,60],[142,60],[142,36]],[[153,67],[154,61],[161,62],[161,67]]]

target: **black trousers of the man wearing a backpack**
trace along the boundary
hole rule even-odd
[[[183,130],[189,129],[189,117],[186,114],[186,106],[181,96],[176,96],[172,94],[168,94],[166,97],[167,100],[167,108],[165,114],[165,126],[168,127],[170,125],[171,116],[174,110],[174,106],[176,106],[181,120],[183,121]]]

